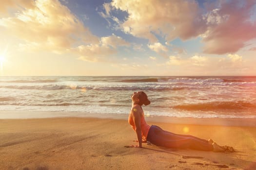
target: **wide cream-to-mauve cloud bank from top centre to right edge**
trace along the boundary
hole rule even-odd
[[[161,38],[168,42],[200,37],[204,53],[227,54],[256,38],[255,0],[217,0],[205,2],[204,8],[196,0],[112,0],[107,4],[103,14],[112,20],[115,13],[111,11],[127,12],[116,28],[150,44]]]

